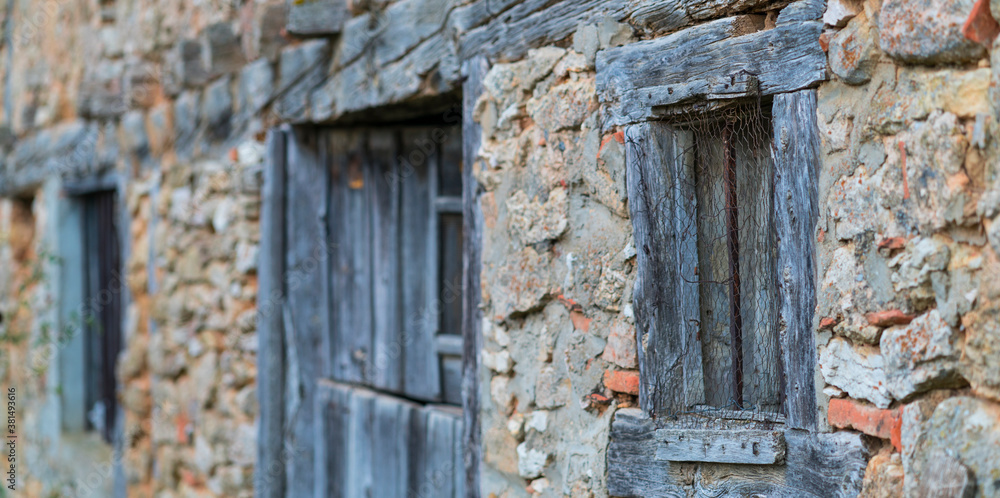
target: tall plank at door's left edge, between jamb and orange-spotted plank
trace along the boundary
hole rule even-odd
[[[292,388],[301,393],[289,410],[290,444],[297,449],[288,461],[288,494],[306,496],[314,490],[314,420],[316,380],[329,363],[327,312],[327,169],[319,155],[318,137],[295,129],[288,140],[286,208],[286,294],[295,342],[296,378]],[[301,450],[301,451],[298,451]]]

